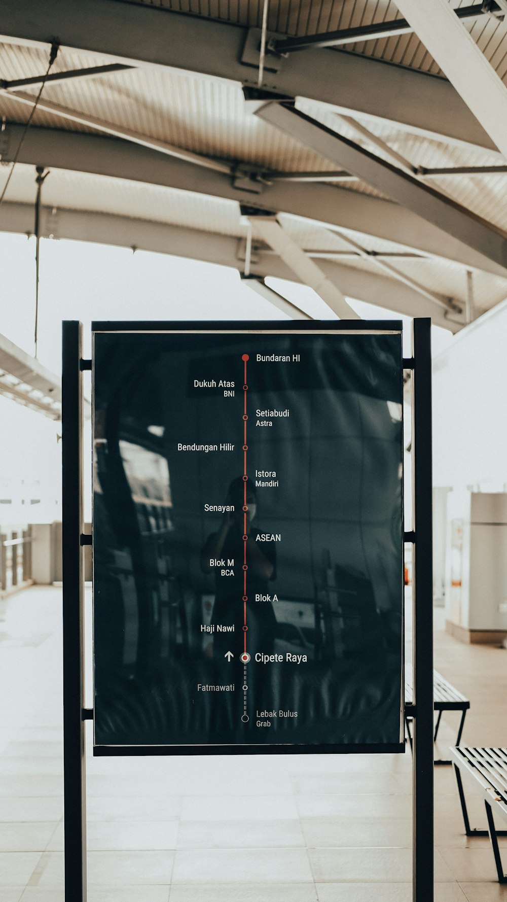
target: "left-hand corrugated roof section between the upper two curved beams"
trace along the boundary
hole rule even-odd
[[[47,65],[47,52],[34,54],[32,48],[1,45],[0,53],[4,78],[27,78],[40,74]],[[96,66],[104,61],[67,51],[59,70]],[[34,98],[37,92],[38,86],[25,89]],[[247,114],[241,87],[234,82],[176,69],[125,69],[98,78],[47,84],[43,99],[205,156],[244,160],[272,169],[332,168],[317,153]],[[9,119],[26,122],[30,108],[2,97],[0,111]],[[33,124],[93,131],[39,109]]]

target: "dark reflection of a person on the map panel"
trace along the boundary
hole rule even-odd
[[[221,662],[226,651],[235,652],[235,658],[243,650],[244,626],[244,533],[246,542],[246,612],[247,650],[272,654],[276,633],[276,617],[272,602],[268,600],[269,583],[276,578],[276,550],[274,542],[260,542],[258,529],[252,526],[257,511],[257,498],[252,480],[246,483],[246,529],[244,529],[244,481],[241,476],[230,483],[226,504],[234,511],[226,511],[222,525],[217,532],[207,537],[200,555],[200,566],[204,573],[215,574],[215,604],[211,617],[215,625],[213,634],[213,658]],[[209,560],[224,558],[234,560],[234,575],[222,575],[221,567],[210,567]],[[263,601],[261,601],[263,598]],[[257,600],[256,600],[257,599]],[[217,631],[217,625],[233,626],[234,630]]]

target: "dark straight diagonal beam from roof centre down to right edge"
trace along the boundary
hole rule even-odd
[[[290,135],[304,147],[353,172],[372,188],[381,191],[402,207],[407,207],[417,216],[422,216],[432,226],[438,226],[457,241],[472,248],[475,253],[484,254],[501,266],[507,275],[507,235],[461,207],[447,195],[422,184],[408,172],[381,160],[359,144],[301,113],[291,104],[268,101],[257,109],[255,115],[263,122],[274,125],[282,133]]]

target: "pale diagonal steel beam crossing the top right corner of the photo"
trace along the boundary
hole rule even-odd
[[[507,160],[507,87],[447,0],[396,5]]]

